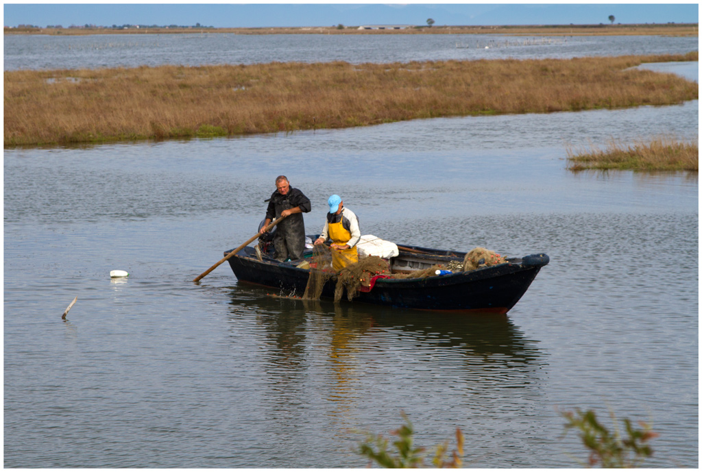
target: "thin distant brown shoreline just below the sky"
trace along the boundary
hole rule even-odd
[[[359,29],[363,28],[363,29]],[[368,29],[371,28],[371,29]],[[373,29],[375,28],[375,29]],[[642,25],[521,25],[521,26],[406,26],[385,29],[378,26],[334,27],[73,27],[73,28],[11,28],[5,34],[45,34],[50,36],[78,36],[88,34],[510,34],[515,36],[698,36],[698,23],[665,23]]]

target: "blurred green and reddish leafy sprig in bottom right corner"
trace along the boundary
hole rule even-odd
[[[639,466],[647,457],[653,455],[649,440],[658,437],[658,433],[651,431],[651,426],[639,422],[641,429],[632,426],[628,418],[623,419],[627,434],[623,438],[613,412],[610,412],[614,424],[614,432],[609,431],[597,421],[597,415],[592,410],[582,412],[561,412],[567,420],[564,434],[569,429],[579,431],[583,445],[590,450],[588,465],[601,466],[602,468],[632,468]]]

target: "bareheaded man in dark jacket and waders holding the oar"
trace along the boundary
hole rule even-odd
[[[260,229],[260,233],[265,232],[270,222],[285,216],[285,220],[279,222],[275,228],[273,246],[275,248],[274,257],[279,261],[286,259],[302,259],[305,250],[305,221],[303,213],[312,210],[310,199],[300,190],[290,187],[288,177],[280,175],[275,180],[276,191],[270,196],[268,209],[265,213],[265,223]]]

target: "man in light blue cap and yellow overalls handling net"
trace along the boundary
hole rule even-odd
[[[334,270],[340,271],[347,264],[358,262],[358,248],[356,244],[361,238],[361,230],[358,226],[356,214],[344,206],[344,202],[338,195],[329,197],[329,213],[326,214],[326,222],[322,234],[314,241],[314,244],[322,244],[326,238],[331,239],[329,246],[335,254],[342,257],[332,257]]]

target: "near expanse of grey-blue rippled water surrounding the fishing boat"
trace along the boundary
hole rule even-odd
[[[695,467],[697,176],[564,156],[697,130],[694,101],[6,149],[4,465],[363,467],[359,431],[404,411],[419,445],[460,427],[468,466],[576,466],[557,409],[611,407],[661,434],[647,464]],[[280,173],[308,232],[339,193],[364,234],[551,263],[507,316],[305,304],[225,265],[192,283],[255,234]]]

